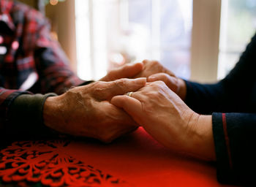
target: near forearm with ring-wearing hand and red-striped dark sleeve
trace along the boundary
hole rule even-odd
[[[255,185],[256,115],[198,115],[162,82],[148,83],[132,96],[115,96],[111,103],[167,148],[217,161],[222,183]]]

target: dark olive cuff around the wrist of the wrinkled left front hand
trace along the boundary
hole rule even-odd
[[[8,122],[5,126],[5,134],[22,139],[23,137],[45,137],[50,129],[43,122],[43,106],[49,96],[56,96],[56,93],[22,94],[14,99],[10,105]]]

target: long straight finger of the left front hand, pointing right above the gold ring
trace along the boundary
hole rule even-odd
[[[111,99],[113,96],[124,95],[129,91],[138,91],[146,85],[146,78],[119,79],[102,83],[103,86],[95,88],[94,93],[99,96],[99,99]]]

